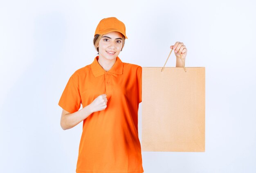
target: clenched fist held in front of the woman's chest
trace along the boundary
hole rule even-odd
[[[107,102],[108,102],[108,99],[107,99],[107,95],[106,94],[99,95],[90,104],[90,108],[91,108],[92,113],[106,109]]]

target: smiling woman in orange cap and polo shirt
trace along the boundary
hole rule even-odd
[[[123,22],[101,20],[94,34],[99,55],[72,74],[58,103],[64,130],[83,121],[76,173],[144,172],[138,137],[142,68],[118,57],[125,39]],[[178,50],[185,60],[186,46],[176,42],[171,48],[176,67],[183,67]]]

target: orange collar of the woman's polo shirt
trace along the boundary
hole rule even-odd
[[[90,64],[92,69],[92,74],[95,77],[99,77],[106,73],[106,71],[99,64],[98,59],[99,59],[99,55],[95,57],[92,64]],[[108,70],[108,72],[113,74],[123,74],[123,66],[124,66],[124,63],[121,61],[119,57],[117,57],[115,64],[112,66],[110,70]]]

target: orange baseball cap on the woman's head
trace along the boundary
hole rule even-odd
[[[124,23],[118,20],[117,18],[104,18],[99,22],[95,30],[94,36],[96,34],[103,35],[106,33],[110,33],[112,31],[118,31],[119,33],[122,33],[124,37],[126,37],[125,30],[126,29]],[[126,39],[128,38],[126,37]]]

